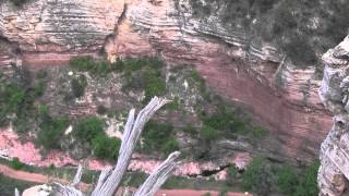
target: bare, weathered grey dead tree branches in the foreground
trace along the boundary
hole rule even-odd
[[[137,144],[145,123],[160,109],[169,102],[167,99],[154,97],[151,102],[140,111],[135,118],[135,110],[132,109],[129,113],[125,124],[124,134],[122,137],[121,147],[119,150],[118,162],[113,168],[101,171],[97,185],[92,192],[92,196],[113,196],[116,195],[122,176],[125,174],[134,147]],[[152,196],[166,182],[174,170],[178,162],[176,159],[180,156],[179,151],[174,151],[164,161],[144,182],[135,193],[135,196]],[[75,188],[82,176],[82,167],[80,166],[76,175],[70,185],[58,186],[57,194],[62,196],[83,196],[83,193]]]

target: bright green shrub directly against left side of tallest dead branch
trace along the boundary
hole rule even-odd
[[[94,156],[100,159],[116,161],[119,155],[121,140],[99,134],[92,140]]]

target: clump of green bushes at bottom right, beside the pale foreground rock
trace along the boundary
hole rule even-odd
[[[318,167],[318,161],[294,168],[290,164],[273,163],[264,158],[254,158],[242,173],[242,187],[261,196],[272,193],[290,196],[317,195]],[[227,182],[239,182],[236,172],[228,172]]]

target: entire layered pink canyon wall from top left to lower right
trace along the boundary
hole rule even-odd
[[[0,11],[0,35],[17,48],[0,56],[0,65],[65,64],[100,50],[110,61],[156,54],[169,64],[193,64],[210,87],[270,130],[280,146],[268,157],[293,162],[312,161],[330,127],[314,68],[298,69],[276,46],[214,15],[194,17],[188,0],[35,0],[22,8],[3,2]]]

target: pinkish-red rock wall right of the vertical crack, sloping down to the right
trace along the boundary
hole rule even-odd
[[[194,64],[209,86],[245,106],[256,121],[277,135],[285,144],[282,155],[312,161],[330,127],[330,117],[317,97],[320,81],[314,79],[315,70],[290,66],[277,71],[278,64],[273,62],[243,62],[241,48],[197,36],[193,19],[180,30],[179,20],[169,16],[173,12],[167,0],[159,7],[146,1],[129,4],[128,17],[119,25],[115,41],[106,45],[106,51],[140,56],[153,54],[157,49],[169,63]],[[285,77],[282,84],[277,84],[277,74]],[[282,87],[276,88],[277,85]]]

